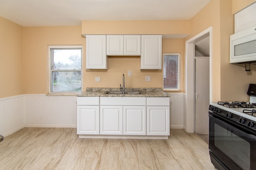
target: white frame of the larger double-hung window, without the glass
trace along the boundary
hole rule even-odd
[[[51,49],[81,49],[81,69],[77,70],[61,70],[61,71],[81,71],[81,91],[79,92],[53,92],[52,91],[52,72],[56,71],[53,68],[53,57],[52,57],[52,50]],[[48,94],[55,94],[55,95],[74,95],[78,94],[83,91],[83,45],[49,45],[48,46]]]

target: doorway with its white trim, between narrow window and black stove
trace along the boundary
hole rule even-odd
[[[208,41],[208,56],[205,55],[196,57],[196,43],[202,41],[207,37]],[[203,43],[204,44],[204,43]],[[200,52],[202,53],[202,52]],[[201,58],[200,58],[201,57]],[[196,64],[195,64],[196,63]],[[198,35],[192,37],[186,41],[186,113],[184,115],[184,129],[188,133],[198,133],[202,135],[208,135],[208,107],[212,98],[212,27],[202,31]],[[207,66],[206,66],[207,65]],[[196,72],[198,70],[198,72]],[[206,72],[206,70],[208,72]],[[204,75],[197,73],[204,73]],[[196,77],[200,78],[202,76],[208,75],[208,78],[202,78],[202,80],[196,80]],[[207,84],[205,84],[205,80]],[[203,83],[200,81],[203,81]],[[199,85],[196,84],[199,82]],[[198,88],[208,86],[207,92],[200,92],[204,98],[202,99],[202,94],[200,94],[200,100],[202,103],[201,107],[197,107],[198,102],[200,102],[199,94],[196,92]],[[199,114],[198,114],[199,113]],[[201,114],[201,115],[200,115]],[[200,118],[200,119],[198,119]],[[201,119],[202,118],[202,119]],[[199,124],[197,124],[199,123]],[[207,141],[206,141],[207,142]]]

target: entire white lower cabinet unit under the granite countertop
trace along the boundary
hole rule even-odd
[[[78,97],[77,134],[168,136],[170,98]]]

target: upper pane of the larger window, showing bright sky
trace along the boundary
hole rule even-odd
[[[53,62],[54,70],[80,70],[81,49],[53,49]]]

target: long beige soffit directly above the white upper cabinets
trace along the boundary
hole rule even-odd
[[[82,34],[190,34],[190,21],[82,21]]]

